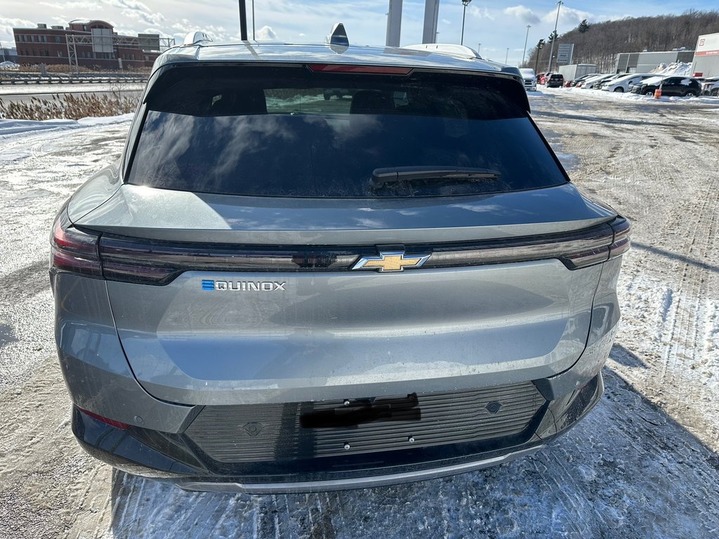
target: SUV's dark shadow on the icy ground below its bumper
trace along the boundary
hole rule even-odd
[[[624,352],[615,346],[613,359],[623,362]],[[445,479],[249,496],[185,493],[114,471],[111,533],[118,538],[715,536],[719,456],[610,369],[604,374],[602,402],[567,436],[526,459]]]

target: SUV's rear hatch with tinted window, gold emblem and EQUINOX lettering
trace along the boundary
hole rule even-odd
[[[127,183],[70,203],[152,395],[459,390],[582,354],[616,214],[567,182],[519,80],[377,71],[170,69]]]

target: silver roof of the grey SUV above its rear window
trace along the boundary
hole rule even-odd
[[[467,49],[470,51],[470,49]],[[294,45],[278,42],[200,42],[173,47],[155,61],[155,70],[162,65],[205,62],[258,63],[331,63],[347,65],[386,65],[410,68],[432,68],[480,71],[487,74],[521,78],[517,68],[461,55],[457,52],[416,50],[400,47],[364,47],[359,45]]]

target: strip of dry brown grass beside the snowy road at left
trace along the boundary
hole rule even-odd
[[[52,101],[33,97],[22,103],[5,103],[0,99],[0,118],[13,120],[49,120],[63,118],[78,120],[88,116],[115,116],[137,109],[137,97],[94,96],[82,94],[52,96]]]

